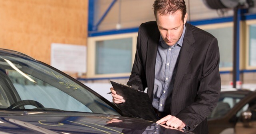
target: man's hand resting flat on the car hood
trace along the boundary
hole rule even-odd
[[[181,121],[179,118],[171,116],[171,115],[167,115],[166,117],[161,118],[156,123],[166,124],[167,126],[171,126],[171,127],[179,128],[179,129],[182,129],[186,126],[185,123],[183,121]]]

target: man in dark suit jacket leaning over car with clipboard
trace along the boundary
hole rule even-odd
[[[147,93],[159,124],[207,134],[220,93],[219,49],[211,34],[186,23],[184,0],[155,0],[156,21],[139,27],[127,85]],[[111,87],[114,103],[124,103]],[[143,114],[143,113],[142,113]]]

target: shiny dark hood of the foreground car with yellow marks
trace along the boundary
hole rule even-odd
[[[93,113],[0,111],[1,134],[192,134],[139,118]]]

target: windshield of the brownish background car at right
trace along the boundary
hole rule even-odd
[[[216,107],[207,117],[220,118],[225,116],[237,103],[239,103],[246,95],[247,91],[223,91],[220,92],[220,97]]]

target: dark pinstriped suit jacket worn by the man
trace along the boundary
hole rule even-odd
[[[171,97],[171,115],[187,125],[190,131],[207,134],[206,117],[218,102],[220,93],[220,54],[217,39],[210,33],[186,23],[177,74]],[[137,51],[127,85],[137,85],[153,101],[155,62],[160,33],[156,21],[142,23]]]

